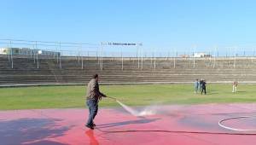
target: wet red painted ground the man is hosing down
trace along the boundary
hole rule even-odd
[[[256,131],[229,131],[220,119],[255,115],[256,104],[164,106],[156,115],[134,117],[119,108],[100,108],[97,129],[84,127],[87,109],[0,111],[0,144],[172,144],[255,145]],[[256,130],[256,117],[224,122]]]

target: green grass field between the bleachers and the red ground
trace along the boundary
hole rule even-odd
[[[85,86],[0,88],[0,109],[84,107]],[[208,84],[207,95],[194,94],[193,84],[101,85],[101,91],[131,106],[256,102],[256,85],[241,84],[236,94],[230,84]],[[117,107],[102,99],[101,107]]]

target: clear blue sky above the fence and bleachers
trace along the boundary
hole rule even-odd
[[[256,1],[1,0],[0,38],[142,42],[143,49],[256,46]]]

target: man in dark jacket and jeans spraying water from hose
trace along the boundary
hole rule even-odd
[[[107,97],[106,95],[101,93],[98,81],[98,74],[94,74],[87,85],[86,104],[89,108],[89,117],[85,126],[90,128],[91,130],[93,130],[96,126],[93,122],[93,119],[95,119],[98,112],[98,102],[102,100],[102,97]]]

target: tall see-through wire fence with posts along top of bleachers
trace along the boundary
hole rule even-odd
[[[40,67],[40,59],[55,59],[61,68],[61,61],[63,59],[76,59],[79,66],[84,68],[84,61],[86,59],[95,59],[98,65],[103,69],[105,59],[113,58],[119,60],[121,68],[124,69],[124,60],[132,59],[137,61],[137,68],[143,69],[144,61],[150,60],[154,64],[154,69],[157,67],[156,60],[166,59],[171,60],[173,67],[176,67],[176,61],[184,59],[189,61],[195,67],[195,61],[198,59],[210,59],[215,61],[218,59],[229,59],[233,61],[234,68],[236,67],[236,59],[255,59],[255,50],[253,47],[215,47],[213,49],[189,49],[189,51],[181,51],[176,49],[163,50],[160,49],[146,49],[133,48],[125,49],[122,46],[116,49],[111,49],[111,46],[103,47],[101,44],[83,44],[83,43],[66,43],[66,42],[44,42],[44,41],[30,41],[30,40],[16,40],[16,39],[0,39],[0,48],[9,48],[8,55],[9,64],[14,68],[14,57],[29,57],[37,67]],[[14,53],[15,48],[28,48],[39,52],[40,50],[56,52],[52,55],[43,55],[40,53],[30,53],[27,55],[17,55]],[[196,58],[195,52],[203,52],[209,58]]]

